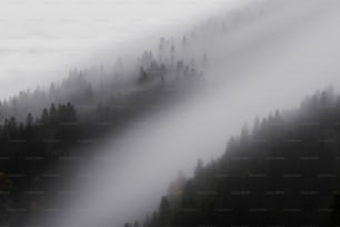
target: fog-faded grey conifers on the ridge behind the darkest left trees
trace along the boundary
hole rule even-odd
[[[184,57],[179,45],[160,38],[156,52],[144,51],[137,62],[126,67],[122,59],[117,60],[111,70],[103,66],[89,69],[71,69],[61,82],[52,82],[49,88],[37,87],[20,91],[19,95],[0,100],[0,120],[13,116],[23,121],[27,112],[39,115],[50,103],[71,102],[80,117],[88,117],[101,106],[118,106],[122,99],[149,89],[177,89],[203,77],[207,55],[198,59]],[[193,63],[197,62],[197,63]]]

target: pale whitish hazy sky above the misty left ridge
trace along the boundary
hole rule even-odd
[[[66,77],[99,50],[114,52],[156,31],[189,28],[198,18],[247,1],[1,0],[0,98]]]

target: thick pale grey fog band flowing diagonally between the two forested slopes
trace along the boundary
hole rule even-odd
[[[273,13],[226,34],[211,47],[207,86],[98,148],[64,185],[77,196],[66,197],[68,208],[49,221],[122,226],[142,218],[180,169],[191,176],[198,158],[220,157],[244,122],[296,108],[328,85],[339,89],[339,7],[332,0],[283,1]]]

